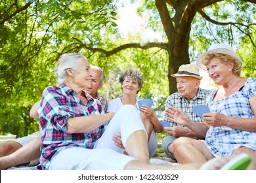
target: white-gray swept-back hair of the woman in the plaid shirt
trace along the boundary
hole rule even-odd
[[[79,58],[85,58],[83,54],[77,54],[77,53],[70,53],[70,54],[64,54],[62,58],[58,59],[58,62],[55,67],[55,77],[57,84],[63,84],[66,82],[67,79],[67,71],[66,69],[73,69],[74,71],[77,71],[79,66],[81,65],[81,61],[79,61]],[[85,58],[87,60],[87,58]]]

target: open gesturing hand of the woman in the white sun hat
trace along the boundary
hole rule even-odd
[[[173,121],[180,125],[188,126],[188,124],[191,122],[188,115],[178,108],[167,107],[165,109],[165,115],[167,115],[167,120]]]

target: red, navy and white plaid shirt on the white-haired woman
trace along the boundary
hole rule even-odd
[[[87,103],[83,105],[77,93],[66,84],[62,84],[60,88],[49,86],[43,91],[38,110],[42,141],[39,169],[49,169],[51,158],[60,150],[74,146],[92,149],[104,133],[105,125],[87,133],[68,133],[68,118],[104,113],[98,100],[86,93],[85,95]]]

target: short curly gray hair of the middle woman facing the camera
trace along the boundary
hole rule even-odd
[[[129,76],[131,76],[131,78],[133,78],[138,82],[139,88],[141,89],[143,86],[143,76],[142,76],[142,73],[139,71],[139,69],[131,68],[123,71],[123,73],[121,73],[121,75],[119,76],[119,82],[123,84],[125,77],[129,77]],[[138,92],[140,92],[140,89]]]

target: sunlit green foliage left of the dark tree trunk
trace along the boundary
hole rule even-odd
[[[117,15],[112,1],[33,1],[32,5],[1,24],[0,133],[20,137],[38,130],[37,120],[29,117],[30,108],[46,86],[55,84],[54,65],[66,52],[83,53],[91,64],[104,69],[108,79],[127,67],[139,67],[145,78],[140,97],[157,103],[156,96],[167,95],[167,54],[163,50],[128,49],[106,57],[83,48],[87,44],[111,50],[123,43],[111,22]],[[3,4],[0,8],[4,12]],[[110,36],[114,34],[117,37]],[[106,86],[113,88],[111,94],[105,92]],[[120,92],[116,77],[100,91],[108,100]]]

